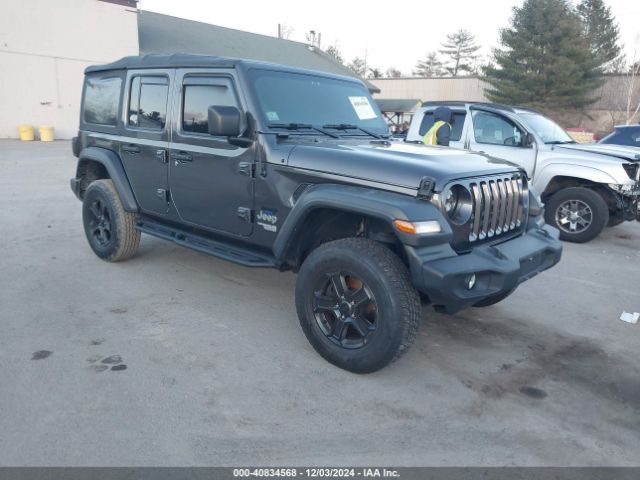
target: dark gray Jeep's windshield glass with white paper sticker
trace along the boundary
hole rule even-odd
[[[251,69],[249,79],[265,126],[306,135],[388,135],[376,103],[360,83]]]

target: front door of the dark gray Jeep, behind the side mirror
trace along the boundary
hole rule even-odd
[[[209,106],[245,111],[233,72],[180,70],[176,85],[169,186],[178,215],[196,227],[250,235],[255,145],[241,148],[208,134]]]

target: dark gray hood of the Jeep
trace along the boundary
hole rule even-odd
[[[519,170],[504,160],[466,150],[349,140],[297,145],[289,166],[411,189],[428,176],[436,181],[436,191],[452,180]]]

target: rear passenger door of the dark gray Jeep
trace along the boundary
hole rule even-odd
[[[168,211],[167,125],[172,70],[130,71],[127,74],[124,131],[120,158],[140,209]]]

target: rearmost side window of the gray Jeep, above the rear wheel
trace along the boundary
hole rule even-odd
[[[119,77],[87,77],[84,87],[82,118],[87,123],[116,125],[120,103]]]

